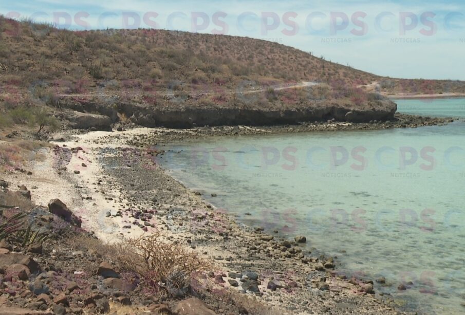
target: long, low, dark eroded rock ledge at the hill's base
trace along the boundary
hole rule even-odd
[[[114,106],[92,102],[69,103],[66,106],[79,108],[85,112],[104,114],[110,120],[110,123],[117,122],[119,120],[118,116],[124,115],[129,117],[132,122],[144,127],[163,126],[169,128],[190,128],[206,125],[263,126],[331,119],[361,123],[374,120],[390,120],[397,111],[396,103],[384,98],[371,100],[361,106],[328,101],[295,108],[199,107],[188,105],[162,108],[127,102],[119,102]]]

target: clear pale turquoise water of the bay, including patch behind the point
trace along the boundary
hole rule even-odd
[[[399,112],[465,117],[465,99],[396,102]],[[218,137],[168,145],[160,163],[246,224],[307,236],[348,276],[384,276],[390,286],[377,290],[400,306],[455,314],[465,310],[464,135],[455,122]]]

